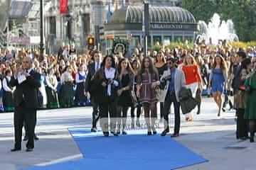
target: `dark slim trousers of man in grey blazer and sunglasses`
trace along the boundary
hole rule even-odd
[[[169,130],[169,111],[171,103],[174,103],[174,133],[178,134],[181,125],[181,115],[180,115],[180,103],[176,99],[175,92],[168,91],[164,101],[164,129]]]

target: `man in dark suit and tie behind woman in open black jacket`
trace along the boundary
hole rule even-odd
[[[97,132],[97,121],[100,118],[100,113],[99,113],[99,104],[95,102],[95,98],[93,97],[93,91],[90,90],[91,87],[91,80],[95,72],[97,72],[100,69],[100,62],[102,60],[102,55],[100,52],[95,52],[93,56],[94,62],[92,64],[88,65],[88,74],[86,77],[85,81],[85,96],[87,96],[87,92],[89,91],[90,93],[90,99],[92,102],[92,129],[91,132]]]

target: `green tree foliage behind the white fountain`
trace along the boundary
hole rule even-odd
[[[256,40],[255,0],[183,0],[182,6],[193,13],[196,21],[208,23],[214,13],[221,20],[232,19],[240,40]]]

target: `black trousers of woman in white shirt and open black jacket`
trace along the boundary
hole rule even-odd
[[[100,103],[100,126],[102,132],[109,131],[109,113],[110,113],[110,131],[115,132],[117,128],[117,101],[110,100],[110,97],[105,103]]]

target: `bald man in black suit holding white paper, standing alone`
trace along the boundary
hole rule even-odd
[[[33,151],[34,132],[36,126],[36,108],[38,108],[37,90],[41,86],[40,74],[32,69],[32,60],[25,57],[14,77],[11,77],[11,86],[16,86],[14,92],[14,130],[15,145],[11,152],[21,150],[21,136],[23,121],[25,121],[28,132],[26,152]]]

